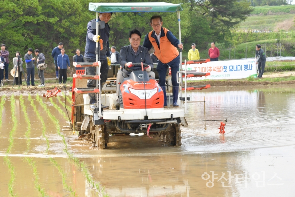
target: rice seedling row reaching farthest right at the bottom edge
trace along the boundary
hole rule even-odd
[[[77,157],[75,157],[73,154],[71,154],[68,150],[68,146],[65,142],[65,137],[63,134],[61,134],[60,132],[60,124],[58,119],[51,114],[51,112],[49,111],[48,107],[45,105],[45,103],[42,102],[41,97],[37,95],[37,101],[40,103],[40,105],[43,107],[44,111],[46,111],[47,115],[49,116],[49,118],[55,123],[56,125],[56,129],[57,129],[57,134],[59,136],[62,137],[62,141],[64,143],[64,152],[68,155],[68,158],[70,159],[70,161],[75,164],[85,175],[88,183],[90,184],[90,186],[92,188],[94,188],[96,191],[98,191],[99,193],[101,193],[102,196],[107,197],[108,194],[105,193],[104,187],[102,189],[100,189],[100,183],[96,182],[93,180],[92,175],[90,174],[87,165],[84,162],[81,162]]]

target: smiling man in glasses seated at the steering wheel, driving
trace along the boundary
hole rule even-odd
[[[130,72],[125,70],[125,66],[129,67],[132,70],[141,70],[141,67],[134,67],[132,63],[146,63],[149,67],[144,68],[148,75],[155,77],[155,73],[151,71],[154,68],[154,64],[151,60],[151,56],[148,53],[148,49],[140,46],[141,33],[139,30],[132,30],[129,32],[129,42],[130,45],[123,46],[120,50],[119,63],[123,69],[120,69],[117,73],[117,96],[119,96],[120,84],[123,81],[124,77],[128,77]]]

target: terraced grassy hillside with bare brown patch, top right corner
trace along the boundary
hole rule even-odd
[[[240,24],[243,30],[278,31],[295,30],[295,5],[256,6],[246,21]]]

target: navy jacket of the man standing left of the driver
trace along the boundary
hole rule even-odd
[[[98,19],[100,21],[100,19]],[[96,21],[93,19],[92,21]],[[87,34],[86,34],[86,46],[85,46],[85,58],[96,59],[95,48],[96,42],[92,40],[93,36],[96,35],[96,30],[91,29],[91,22],[87,24]],[[108,43],[108,38],[110,37],[110,26],[108,23],[105,24],[104,29],[100,30],[100,39],[103,40],[103,50],[100,50],[100,60],[106,60],[107,57],[110,57],[110,46]],[[100,44],[99,44],[100,45]]]

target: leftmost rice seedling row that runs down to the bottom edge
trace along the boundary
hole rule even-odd
[[[14,95],[12,94],[12,96],[10,97],[10,108],[11,108],[11,116],[12,116],[12,122],[13,122],[13,126],[11,131],[9,132],[9,145],[6,151],[6,155],[4,156],[3,160],[4,160],[4,164],[8,167],[9,171],[10,171],[10,180],[8,182],[8,193],[11,196],[14,196],[13,194],[13,189],[14,189],[14,180],[15,180],[15,168],[14,165],[12,164],[10,158],[8,158],[8,154],[11,150],[11,148],[13,147],[13,136],[16,130],[16,124],[17,124],[17,120],[16,120],[16,116],[15,116],[15,99],[14,99]]]

